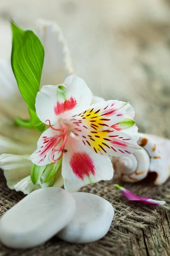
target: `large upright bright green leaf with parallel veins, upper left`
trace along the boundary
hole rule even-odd
[[[11,23],[13,34],[11,66],[18,88],[27,105],[35,111],[35,98],[40,87],[44,48],[32,31]]]

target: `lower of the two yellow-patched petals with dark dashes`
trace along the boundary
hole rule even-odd
[[[115,157],[133,154],[140,148],[136,139],[121,131],[105,128],[105,130],[88,129],[82,125],[81,120],[71,119],[68,126],[71,131],[81,140],[84,145],[96,152],[97,154],[112,155]]]

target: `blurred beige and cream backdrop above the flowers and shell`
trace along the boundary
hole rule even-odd
[[[130,102],[140,132],[170,138],[170,0],[0,0],[0,58],[8,19],[32,29],[39,17],[59,23],[95,95]]]

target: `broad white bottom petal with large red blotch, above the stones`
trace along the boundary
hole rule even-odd
[[[65,148],[68,152],[63,155],[62,177],[66,190],[75,192],[84,185],[112,179],[113,166],[108,156],[94,153],[70,136]]]

